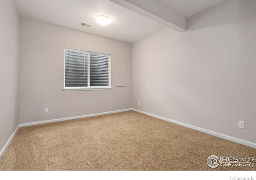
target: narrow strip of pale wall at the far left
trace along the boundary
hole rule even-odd
[[[19,124],[20,14],[13,0],[0,0],[0,151]]]

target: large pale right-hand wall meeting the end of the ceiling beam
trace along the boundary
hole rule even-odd
[[[256,1],[224,1],[187,28],[133,44],[132,108],[255,143]]]

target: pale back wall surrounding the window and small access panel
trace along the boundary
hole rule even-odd
[[[20,47],[21,124],[131,108],[131,44],[22,18]],[[63,91],[64,48],[111,54],[112,90]],[[116,62],[127,64],[126,87],[116,87]]]

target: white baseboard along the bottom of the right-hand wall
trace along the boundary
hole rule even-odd
[[[144,111],[141,111],[141,110],[137,110],[137,109],[133,109],[132,110],[136,111],[136,112],[140,112],[142,114],[146,114],[148,116],[152,116],[154,118],[158,118],[158,119],[162,119],[162,120],[165,120],[165,121],[168,121],[168,122],[172,122],[174,124],[179,124],[181,126],[185,126],[187,128],[191,128],[191,129],[194,129],[194,130],[198,130],[200,132],[204,132],[206,134],[210,134],[210,135],[213,135],[213,136],[217,136],[219,138],[222,138],[222,139],[226,139],[226,140],[230,140],[232,142],[236,142],[236,143],[239,143],[239,144],[243,144],[243,145],[246,145],[246,146],[249,146],[249,147],[252,147],[252,148],[256,148],[256,144],[253,143],[253,142],[248,142],[248,141],[245,141],[245,140],[241,140],[241,139],[238,139],[238,138],[234,138],[234,137],[231,137],[231,136],[227,136],[225,134],[220,134],[218,132],[213,132],[213,131],[210,131],[210,130],[206,130],[206,129],[203,129],[203,128],[198,128],[196,126],[192,126],[190,124],[185,124],[183,122],[178,122],[178,121],[175,121],[175,120],[171,120],[171,119],[168,119],[168,118],[164,118],[164,117],[161,117],[161,116],[157,116],[155,114],[150,114],[148,112],[144,112]]]

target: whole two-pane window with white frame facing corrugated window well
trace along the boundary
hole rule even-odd
[[[111,89],[110,55],[65,48],[64,90]]]

